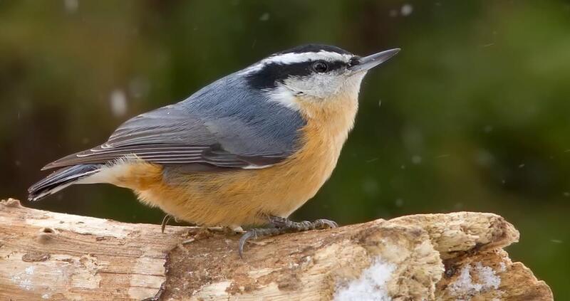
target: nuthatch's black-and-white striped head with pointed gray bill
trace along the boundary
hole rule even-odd
[[[309,44],[274,53],[239,74],[253,89],[291,107],[296,105],[291,97],[314,101],[334,99],[342,93],[356,97],[368,70],[398,51],[361,57],[336,46]]]

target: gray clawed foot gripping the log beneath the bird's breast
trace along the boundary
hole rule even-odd
[[[247,231],[242,238],[239,238],[239,257],[244,257],[244,245],[249,239],[257,239],[266,236],[276,236],[284,233],[302,232],[317,229],[336,228],[338,224],[328,219],[318,219],[316,221],[291,221],[289,218],[279,216],[269,216],[269,224],[273,228],[252,228]]]

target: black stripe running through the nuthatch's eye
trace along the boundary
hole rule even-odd
[[[269,63],[263,66],[261,70],[249,73],[247,75],[247,81],[249,85],[254,88],[265,89],[265,88],[275,88],[277,83],[283,82],[286,78],[290,76],[307,76],[312,73],[316,73],[313,69],[313,64],[319,60],[309,60],[300,63]],[[326,61],[328,68],[326,73],[331,73],[335,70],[346,68],[346,63],[341,60]]]

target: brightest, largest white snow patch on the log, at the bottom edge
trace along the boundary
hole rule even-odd
[[[392,278],[395,268],[396,266],[393,263],[386,263],[380,258],[376,258],[370,267],[362,271],[360,278],[352,280],[348,285],[337,287],[334,300],[391,300],[385,285]]]

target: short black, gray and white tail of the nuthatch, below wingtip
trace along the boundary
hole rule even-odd
[[[104,165],[100,164],[79,164],[58,169],[28,189],[28,200],[38,201],[50,194],[55,194],[61,189],[76,184],[81,179],[85,179],[87,176],[97,173],[103,166]]]

